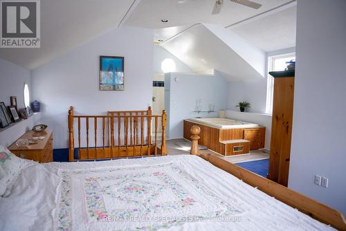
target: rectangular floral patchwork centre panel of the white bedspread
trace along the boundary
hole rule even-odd
[[[59,174],[57,230],[159,230],[242,213],[174,163]]]

